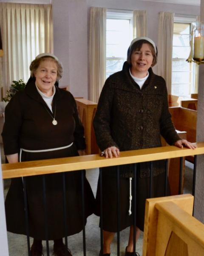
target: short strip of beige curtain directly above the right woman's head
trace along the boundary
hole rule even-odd
[[[146,11],[133,11],[133,38],[147,36]]]

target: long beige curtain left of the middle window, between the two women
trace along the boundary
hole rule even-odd
[[[105,82],[106,8],[91,7],[89,27],[89,99],[98,102]]]

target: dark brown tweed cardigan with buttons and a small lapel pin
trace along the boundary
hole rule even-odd
[[[150,68],[140,89],[129,69],[125,62],[122,71],[111,75],[103,86],[94,118],[99,148],[116,146],[125,151],[160,147],[160,135],[173,145],[180,138],[171,121],[164,79]],[[146,171],[142,176],[148,175]],[[154,175],[161,173],[158,171],[154,170]]]

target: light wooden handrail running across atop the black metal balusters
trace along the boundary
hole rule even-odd
[[[121,164],[133,164],[166,158],[204,154],[204,142],[197,143],[195,150],[180,149],[175,146],[156,147],[120,152],[119,158],[104,158],[99,155],[83,155],[67,158],[27,161],[2,164],[3,178],[16,178],[31,175],[61,173],[74,170],[92,169]]]

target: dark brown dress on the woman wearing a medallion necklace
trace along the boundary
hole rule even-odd
[[[62,158],[78,155],[77,150],[85,149],[84,129],[78,117],[75,100],[70,92],[56,87],[53,99],[53,112],[56,106],[57,125],[48,113],[46,103],[37,92],[33,81],[27,84],[6,106],[3,144],[6,155],[26,150],[43,150],[64,147],[63,150],[49,152],[23,152],[22,161]],[[51,113],[51,112],[50,112]],[[51,113],[52,114],[52,113]],[[65,175],[68,235],[82,230],[82,189],[81,173],[68,172]],[[62,173],[45,175],[48,239],[65,236],[64,208],[62,195]],[[86,178],[85,182],[85,221],[93,213],[94,196]],[[42,175],[26,178],[29,235],[35,239],[45,239],[45,210],[42,196]],[[7,230],[25,234],[25,211],[22,178],[13,178],[6,196]]]

